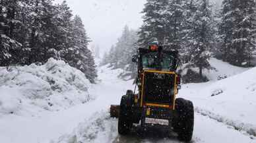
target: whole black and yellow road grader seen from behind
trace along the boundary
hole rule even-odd
[[[138,93],[127,90],[120,105],[112,105],[110,115],[118,117],[119,134],[127,134],[133,123],[142,128],[162,127],[177,132],[180,140],[193,134],[193,103],[176,95],[180,89],[178,52],[168,46],[139,48],[133,56],[137,63]]]

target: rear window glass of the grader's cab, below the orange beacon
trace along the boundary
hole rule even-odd
[[[143,69],[170,71],[174,67],[174,57],[168,53],[150,52],[142,57]]]

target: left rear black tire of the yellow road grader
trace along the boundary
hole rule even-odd
[[[128,134],[131,130],[131,126],[133,125],[130,117],[131,109],[127,105],[127,102],[127,96],[122,96],[118,118],[118,133],[122,135]]]

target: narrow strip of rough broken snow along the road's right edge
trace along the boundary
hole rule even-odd
[[[251,139],[256,140],[256,127],[255,125],[240,123],[240,121],[233,121],[230,119],[226,119],[226,117],[222,117],[205,109],[201,109],[199,107],[195,107],[195,112],[200,115],[207,116],[210,119],[223,123],[230,127],[230,129],[238,130],[242,134],[250,136]]]

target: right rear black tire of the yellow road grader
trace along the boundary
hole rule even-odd
[[[174,131],[177,132],[181,141],[189,142],[193,136],[194,107],[193,103],[183,98],[176,99],[177,120]]]

